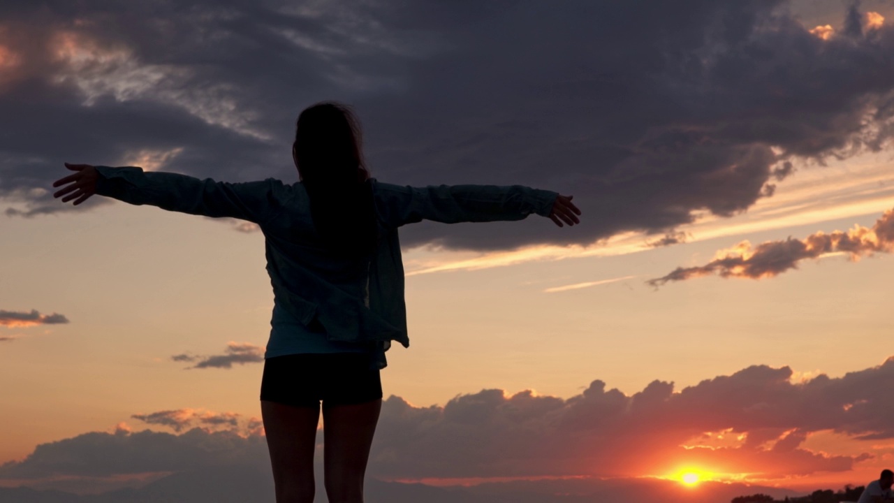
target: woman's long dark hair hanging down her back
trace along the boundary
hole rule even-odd
[[[372,252],[375,208],[360,124],[350,107],[326,101],[298,116],[292,158],[308,191],[316,233],[343,257]]]

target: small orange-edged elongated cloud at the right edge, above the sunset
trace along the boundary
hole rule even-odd
[[[752,247],[743,241],[729,250],[717,252],[714,260],[704,266],[677,268],[667,276],[650,279],[647,284],[662,286],[669,281],[692,277],[718,275],[761,279],[775,277],[789,269],[797,269],[798,262],[818,259],[831,253],[847,254],[859,260],[873,253],[894,252],[894,209],[886,211],[872,227],[854,226],[847,232],[816,233],[805,239],[768,241]]]

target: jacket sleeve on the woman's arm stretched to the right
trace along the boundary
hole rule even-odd
[[[548,217],[556,192],[523,185],[430,185],[376,183],[380,217],[398,227],[421,220],[445,224],[521,220],[531,213]]]

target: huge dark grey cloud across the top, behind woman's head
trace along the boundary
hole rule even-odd
[[[783,0],[13,5],[0,196],[14,215],[71,208],[32,192],[66,160],[294,180],[295,116],[324,98],[356,105],[380,179],[523,183],[585,212],[572,229],[404,233],[477,249],[729,216],[772,195],[786,162],[879,150],[894,131],[894,28],[864,30],[856,4],[828,40]]]

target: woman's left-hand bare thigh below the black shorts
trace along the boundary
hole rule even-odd
[[[312,503],[319,405],[293,407],[261,400],[261,416],[274,468],[276,503]]]

